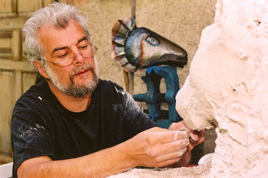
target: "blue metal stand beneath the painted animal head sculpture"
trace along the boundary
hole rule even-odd
[[[160,92],[160,80],[166,82],[166,93]],[[147,92],[135,94],[134,100],[146,102],[149,108],[149,116],[159,127],[169,128],[173,122],[181,120],[176,111],[176,94],[179,91],[179,78],[177,68],[172,66],[152,66],[146,70],[146,76],[141,79],[147,85]],[[169,118],[161,118],[161,102],[169,107]]]

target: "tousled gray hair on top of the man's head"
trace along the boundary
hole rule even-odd
[[[79,14],[79,10],[73,5],[55,2],[31,14],[22,29],[25,35],[26,52],[31,62],[41,60],[42,65],[45,65],[44,49],[38,38],[38,32],[42,26],[51,23],[55,28],[66,28],[69,20],[75,20],[80,24],[91,43],[88,18]]]

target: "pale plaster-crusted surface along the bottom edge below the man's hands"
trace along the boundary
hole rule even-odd
[[[107,178],[207,178],[211,165],[202,165],[192,168],[164,168],[164,169],[132,169],[125,173]]]

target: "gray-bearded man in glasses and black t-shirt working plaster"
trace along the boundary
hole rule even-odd
[[[129,93],[98,79],[87,24],[74,6],[53,3],[23,28],[28,58],[46,81],[14,107],[13,177],[98,178],[137,166],[187,165],[204,132],[183,122],[158,128]]]

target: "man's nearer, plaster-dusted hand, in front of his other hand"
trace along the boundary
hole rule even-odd
[[[126,141],[135,166],[165,167],[178,162],[187,151],[190,132],[152,128]]]

